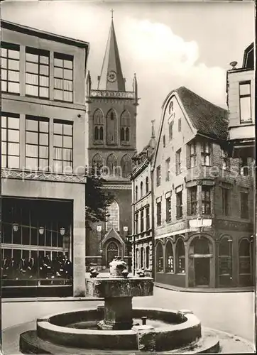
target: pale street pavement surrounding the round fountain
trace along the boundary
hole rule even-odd
[[[65,302],[4,302],[2,304],[2,327],[4,329],[31,322],[37,317],[55,312],[69,312],[102,303],[96,301]],[[134,307],[161,307],[170,310],[192,310],[202,326],[219,329],[254,342],[254,293],[185,293],[155,288],[151,297],[134,297]],[[34,322],[35,324],[35,322]],[[26,324],[26,327],[31,327]],[[16,328],[23,332],[23,326]],[[11,339],[10,339],[11,338]],[[3,348],[18,344],[17,330],[9,329],[3,334]],[[3,349],[3,350],[4,350]],[[4,354],[11,354],[4,351]]]

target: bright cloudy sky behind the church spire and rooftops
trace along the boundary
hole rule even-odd
[[[114,9],[114,27],[126,90],[133,74],[140,97],[137,149],[155,132],[161,106],[180,86],[226,108],[226,70],[254,40],[254,1],[12,1],[1,18],[89,42],[87,70],[97,89]]]

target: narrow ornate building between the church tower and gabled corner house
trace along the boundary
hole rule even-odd
[[[152,275],[153,266],[153,199],[151,161],[155,149],[154,121],[148,145],[133,158],[132,180],[132,264],[133,273],[145,268]]]

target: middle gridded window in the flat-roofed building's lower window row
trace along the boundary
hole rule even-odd
[[[49,120],[26,116],[26,169],[49,170]]]

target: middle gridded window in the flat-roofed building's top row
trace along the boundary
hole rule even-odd
[[[26,95],[49,98],[49,52],[26,48]]]

